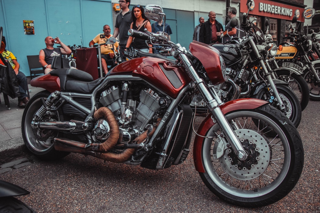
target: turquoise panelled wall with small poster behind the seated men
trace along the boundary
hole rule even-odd
[[[58,36],[66,45],[83,45],[113,26],[111,0],[0,0],[0,26],[7,49],[30,76],[27,55],[38,55],[47,36]],[[23,20],[34,20],[35,34],[25,35]],[[113,27],[111,27],[113,32]],[[81,43],[82,40],[82,43]]]

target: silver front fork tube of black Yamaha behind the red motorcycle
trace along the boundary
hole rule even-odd
[[[260,66],[264,72],[264,75],[268,81],[268,83],[270,84],[270,87],[274,93],[274,95],[276,96],[276,99],[277,99],[277,102],[279,104],[279,108],[280,110],[283,110],[285,107],[284,107],[284,103],[279,95],[279,92],[276,88],[276,84],[275,82],[273,82],[272,80],[272,77],[271,77],[271,73],[268,71],[266,65],[264,64],[264,61],[260,55],[260,52],[255,44],[255,42],[253,41],[253,39],[250,40],[250,44],[251,44],[251,47],[252,47],[252,50],[254,51],[254,53],[256,54],[257,58],[259,59],[259,63],[260,63]]]

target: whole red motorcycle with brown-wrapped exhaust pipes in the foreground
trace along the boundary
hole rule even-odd
[[[160,6],[147,5],[145,14],[165,21]],[[32,79],[32,86],[45,89],[22,117],[23,140],[34,155],[54,160],[74,152],[162,170],[182,164],[193,150],[205,185],[232,204],[265,206],[293,189],[304,159],[297,129],[266,101],[223,103],[213,89],[226,77],[217,49],[192,42],[187,51],[162,32],[130,29],[129,35],[162,46],[176,61],[133,58],[94,81],[75,69]],[[194,94],[202,95],[210,114],[191,143]]]

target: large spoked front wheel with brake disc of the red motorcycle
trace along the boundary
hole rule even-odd
[[[202,144],[205,172],[199,174],[204,184],[218,197],[237,206],[261,207],[279,201],[293,189],[302,172],[304,151],[297,129],[268,104],[232,111],[226,118],[231,126],[233,123],[240,128],[235,132],[248,148],[249,157],[239,161],[221,137],[218,124],[213,125],[205,135],[211,138],[204,138]],[[263,125],[257,126],[253,120]],[[266,126],[278,137],[263,133],[261,129]]]

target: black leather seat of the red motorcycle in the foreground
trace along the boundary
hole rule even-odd
[[[63,92],[91,93],[103,80],[93,80],[89,73],[70,68],[52,70],[50,74],[59,77],[60,89]]]

